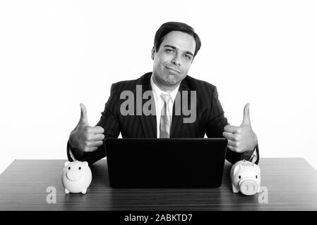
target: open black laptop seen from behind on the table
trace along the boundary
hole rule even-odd
[[[112,188],[217,188],[227,139],[106,139]]]

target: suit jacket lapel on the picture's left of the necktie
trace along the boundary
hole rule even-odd
[[[148,73],[144,76],[144,79],[142,80],[142,96],[145,91],[152,91],[151,85],[150,85],[150,77],[152,75],[152,72]],[[143,99],[142,98],[142,106],[146,101],[149,99]],[[155,105],[153,105],[155,107]],[[154,109],[155,110],[155,109]],[[142,112],[143,114],[143,112]],[[157,125],[156,125],[156,115],[140,115],[140,122],[143,129],[143,134],[145,135],[145,138],[157,138]]]

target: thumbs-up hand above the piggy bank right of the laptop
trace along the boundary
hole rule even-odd
[[[227,125],[222,135],[228,140],[228,148],[237,153],[256,148],[258,138],[253,132],[249,113],[250,103],[244,106],[244,120],[240,127]]]

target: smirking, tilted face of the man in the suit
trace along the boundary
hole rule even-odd
[[[195,48],[191,35],[173,31],[165,35],[158,51],[152,49],[153,79],[161,89],[173,88],[186,77]]]

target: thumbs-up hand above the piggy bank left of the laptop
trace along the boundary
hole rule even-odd
[[[92,152],[97,150],[98,146],[102,146],[104,129],[99,126],[91,127],[88,124],[87,110],[83,103],[80,103],[80,110],[79,122],[71,131],[68,141],[71,147],[80,150],[81,153]]]

